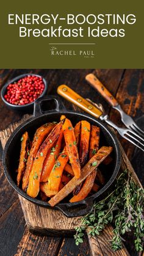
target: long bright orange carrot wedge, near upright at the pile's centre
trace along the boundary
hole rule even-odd
[[[65,144],[67,146],[67,153],[70,159],[71,167],[73,168],[74,175],[79,178],[81,175],[81,166],[79,163],[79,155],[76,146],[76,136],[70,120],[65,119],[62,126]]]

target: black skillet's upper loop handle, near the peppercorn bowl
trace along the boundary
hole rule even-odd
[[[54,109],[50,109],[47,111],[43,111],[43,104],[45,103],[49,103],[49,105],[52,103],[52,101],[54,101],[54,103],[56,104],[56,108]],[[44,97],[38,98],[35,103],[34,103],[34,117],[38,117],[38,115],[42,115],[51,111],[65,111],[66,108],[62,102],[62,100],[56,96],[56,95],[46,95]]]

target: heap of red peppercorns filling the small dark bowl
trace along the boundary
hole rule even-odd
[[[7,86],[4,98],[14,105],[25,105],[32,103],[45,89],[43,79],[38,76],[25,76],[13,84]]]

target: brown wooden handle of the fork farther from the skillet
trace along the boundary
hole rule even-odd
[[[95,75],[88,74],[87,76],[85,76],[85,79],[93,88],[98,90],[101,96],[103,96],[111,106],[115,107],[118,105],[117,100],[112,96],[109,90],[107,90],[106,87],[103,86],[103,84],[99,81],[98,78],[96,78]]]

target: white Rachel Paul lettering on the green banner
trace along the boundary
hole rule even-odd
[[[51,56],[82,56],[85,58],[93,58],[95,56],[94,51],[91,49],[58,49],[56,46],[51,46],[49,50]]]

